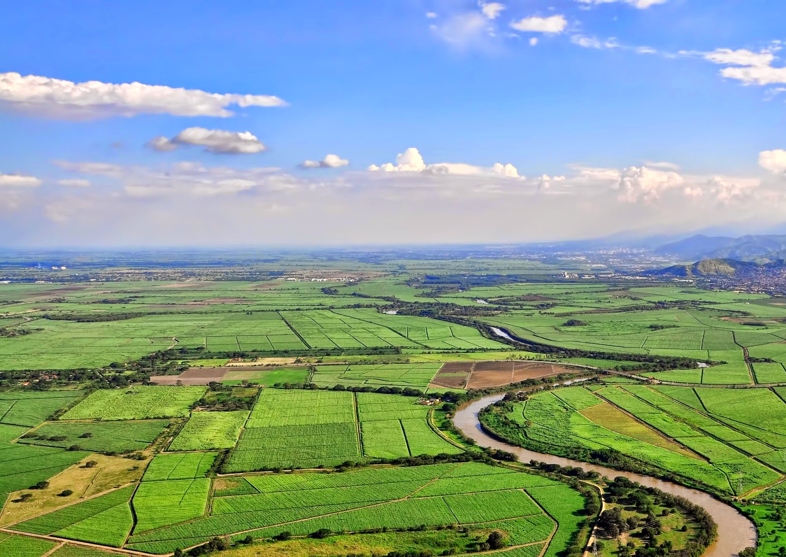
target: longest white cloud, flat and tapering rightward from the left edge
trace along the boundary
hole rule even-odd
[[[139,114],[230,116],[229,106],[284,106],[270,95],[208,93],[143,83],[75,83],[40,75],[0,74],[0,102],[52,117],[108,117]]]

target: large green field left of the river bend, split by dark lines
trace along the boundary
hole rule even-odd
[[[245,423],[226,471],[460,453],[428,427],[427,416],[428,407],[418,405],[413,397],[266,389]]]

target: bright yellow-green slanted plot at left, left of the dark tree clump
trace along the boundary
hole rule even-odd
[[[144,420],[189,415],[205,387],[134,386],[96,390],[66,412],[63,420]]]

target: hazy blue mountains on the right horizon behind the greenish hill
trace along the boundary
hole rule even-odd
[[[762,236],[703,236],[698,234],[654,250],[658,255],[696,261],[699,259],[729,259],[736,262],[774,262],[786,258],[786,235]]]

